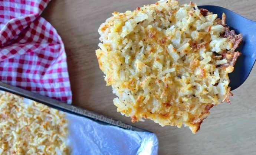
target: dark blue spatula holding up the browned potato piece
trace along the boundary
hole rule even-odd
[[[205,8],[220,18],[222,13],[225,13],[227,26],[237,34],[243,35],[243,43],[236,50],[242,52],[242,55],[237,59],[234,72],[229,74],[231,90],[237,89],[247,79],[256,61],[256,21],[219,6],[199,6],[198,8]]]

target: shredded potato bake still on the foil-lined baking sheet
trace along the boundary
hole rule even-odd
[[[69,154],[65,114],[43,104],[0,94],[0,155]]]

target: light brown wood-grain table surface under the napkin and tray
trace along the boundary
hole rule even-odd
[[[218,5],[256,20],[255,0],[195,0],[198,5]],[[52,0],[43,13],[65,44],[73,92],[73,104],[132,124],[116,112],[115,95],[105,86],[98,67],[98,27],[114,11],[134,10],[155,0]],[[180,4],[189,0],[180,0]],[[256,41],[255,41],[256,44]],[[231,105],[211,109],[201,130],[192,134],[187,127],[160,127],[152,121],[132,125],[157,134],[159,154],[256,154],[256,68],[246,82],[233,91]]]

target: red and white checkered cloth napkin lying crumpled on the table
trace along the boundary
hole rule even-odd
[[[62,39],[39,15],[50,0],[0,0],[0,80],[71,104]]]

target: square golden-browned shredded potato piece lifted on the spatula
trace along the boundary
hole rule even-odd
[[[231,95],[229,62],[237,57],[232,59],[234,45],[225,30],[224,14],[221,21],[176,0],[114,12],[98,30],[102,43],[96,56],[118,96],[117,111],[132,122],[184,124],[196,133],[210,108]]]

